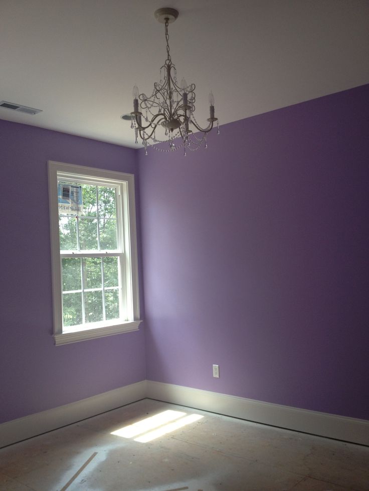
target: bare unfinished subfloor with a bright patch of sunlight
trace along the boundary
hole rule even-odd
[[[368,490],[369,447],[144,399],[1,449],[0,489]]]

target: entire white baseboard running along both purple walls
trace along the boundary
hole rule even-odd
[[[369,421],[169,383],[142,380],[0,424],[0,448],[148,397],[369,446]]]

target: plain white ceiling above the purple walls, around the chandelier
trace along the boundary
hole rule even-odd
[[[132,87],[151,93],[169,25],[178,80],[199,123],[230,123],[369,83],[366,0],[0,0],[0,119],[134,147]]]

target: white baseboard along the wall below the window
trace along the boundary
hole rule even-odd
[[[0,424],[0,448],[146,397],[146,380]]]

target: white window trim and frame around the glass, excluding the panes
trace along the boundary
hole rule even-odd
[[[60,266],[60,242],[59,242],[59,214],[58,214],[58,173],[84,175],[99,180],[116,181],[126,183],[126,193],[121,199],[125,199],[123,206],[123,223],[127,233],[125,234],[124,258],[125,258],[125,287],[127,290],[127,302],[130,304],[132,320],[111,324],[101,322],[92,324],[89,328],[75,332],[63,332],[62,319],[62,280]],[[52,256],[52,285],[53,285],[53,316],[54,339],[56,345],[83,341],[98,337],[110,336],[122,332],[137,331],[140,320],[139,291],[138,291],[138,266],[137,266],[137,238],[136,238],[136,214],[134,197],[134,176],[122,172],[114,172],[91,167],[65,164],[62,162],[48,162],[49,175],[49,207],[50,207],[50,234]],[[62,176],[64,177],[64,176]],[[98,326],[98,327],[97,327]]]

